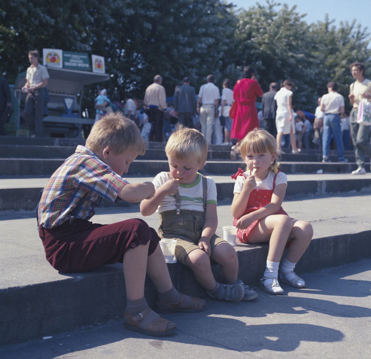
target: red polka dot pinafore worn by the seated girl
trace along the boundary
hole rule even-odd
[[[280,172],[280,171],[279,171]],[[238,175],[239,172],[237,172],[236,175]],[[275,174],[275,177],[273,178],[273,188],[272,190],[257,190],[254,189],[250,192],[249,195],[249,201],[247,202],[247,207],[243,215],[254,212],[256,210],[259,210],[259,208],[264,207],[266,204],[270,203],[270,200],[272,199],[273,190],[275,189],[276,184],[276,177],[277,174]],[[233,176],[232,176],[233,178]],[[288,214],[283,210],[282,207],[278,210],[275,214],[285,214],[288,216]],[[241,216],[242,217],[242,216]],[[239,220],[239,218],[233,218],[233,225],[236,225],[236,222]],[[249,243],[248,236],[250,231],[257,225],[259,220],[253,221],[252,224],[249,225],[246,229],[239,229],[237,230],[237,238],[242,243]]]

